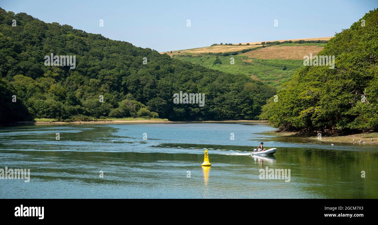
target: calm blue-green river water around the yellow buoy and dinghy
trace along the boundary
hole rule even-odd
[[[29,182],[0,179],[0,199],[378,198],[378,145],[331,146],[272,130],[254,123],[0,127],[0,171],[30,169]],[[260,142],[278,151],[249,155]],[[204,149],[210,168],[201,167]]]

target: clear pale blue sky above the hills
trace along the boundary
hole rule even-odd
[[[213,43],[333,36],[349,28],[377,0],[317,1],[6,1],[6,11],[26,12],[45,22],[68,24],[88,33],[157,51]],[[104,26],[99,26],[99,20]],[[191,26],[186,26],[187,20]],[[274,20],[278,26],[273,26]]]

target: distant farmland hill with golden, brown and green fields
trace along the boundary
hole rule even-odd
[[[318,38],[327,41],[330,37]],[[303,40],[303,39],[302,39]],[[291,42],[281,40],[274,42]],[[317,41],[304,39],[304,42]],[[253,42],[239,45],[213,45],[210,47],[193,48],[167,52],[172,58],[207,68],[231,74],[243,74],[264,84],[280,88],[284,82],[290,81],[293,74],[303,67],[303,56],[316,55],[324,48],[324,43],[274,43],[261,45],[262,42]],[[234,64],[231,64],[231,57]],[[219,60],[222,64],[214,64]]]

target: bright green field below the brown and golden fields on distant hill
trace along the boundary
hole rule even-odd
[[[283,82],[289,81],[294,72],[303,66],[303,60],[251,59],[243,55],[214,56],[204,54],[197,56],[175,55],[173,57],[214,70],[231,74],[244,74],[277,88],[279,88]],[[217,57],[222,64],[213,65]],[[234,64],[230,64],[231,57],[234,57]],[[286,66],[286,70],[284,70],[284,66]]]

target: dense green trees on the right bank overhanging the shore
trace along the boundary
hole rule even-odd
[[[277,92],[277,101],[270,99],[260,118],[289,130],[377,130],[378,9],[361,20],[318,53],[335,56],[334,69],[301,68]]]

